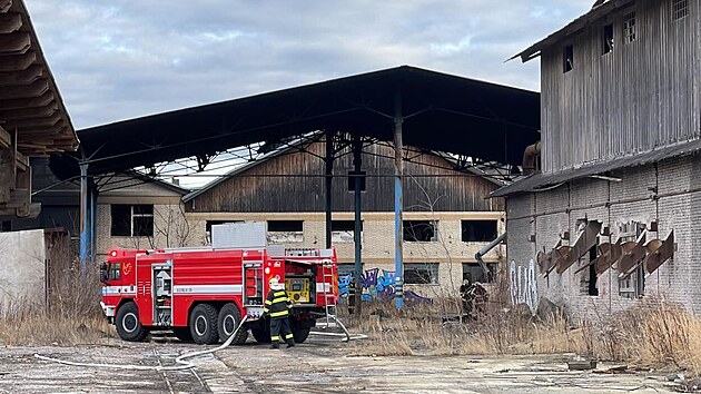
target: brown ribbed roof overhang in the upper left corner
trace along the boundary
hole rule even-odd
[[[22,0],[0,0],[0,127],[24,156],[78,146]]]

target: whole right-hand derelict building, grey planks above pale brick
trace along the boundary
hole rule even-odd
[[[541,58],[541,141],[504,187],[511,296],[572,316],[701,313],[701,1],[598,1]]]

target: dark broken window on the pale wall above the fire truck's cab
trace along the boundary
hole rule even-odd
[[[112,237],[152,237],[154,206],[125,205],[110,206]]]

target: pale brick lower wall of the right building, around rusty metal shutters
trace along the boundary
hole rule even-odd
[[[701,256],[697,250],[701,243],[698,235],[701,181],[695,176],[699,169],[701,157],[687,156],[613,171],[611,176],[621,181],[586,178],[546,191],[512,196],[507,199],[507,259],[516,274],[527,272],[537,252],[552,249],[564,232],[570,232],[574,243],[577,219],[601,220],[611,230],[611,242],[620,237],[621,226],[631,220],[646,226],[658,221],[659,232],[649,233],[648,239],[664,239],[673,229],[678,250],[672,259],[645,277],[642,298],[668,299],[700,314]],[[535,242],[531,242],[531,236]],[[609,237],[600,236],[600,242],[609,242]],[[549,277],[536,265],[534,286],[525,276],[516,275],[512,294],[517,295],[517,303],[529,301],[524,293],[535,287],[535,304],[547,298],[577,318],[596,318],[641,302],[620,293],[616,266],[598,278],[599,295],[590,296],[589,272],[574,274],[588,262],[585,255],[562,275],[553,272]]]

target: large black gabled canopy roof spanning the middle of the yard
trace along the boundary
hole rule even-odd
[[[103,174],[314,130],[392,141],[397,105],[404,142],[422,149],[519,165],[537,140],[537,92],[403,66],[80,130],[81,157],[52,169]]]

